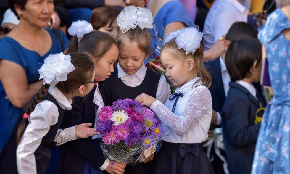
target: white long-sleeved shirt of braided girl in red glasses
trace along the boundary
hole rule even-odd
[[[49,87],[48,92],[57,100],[62,109],[72,109],[72,100],[68,100],[58,88]],[[31,112],[28,117],[29,124],[17,146],[18,173],[37,173],[34,152],[40,145],[42,138],[48,133],[50,126],[57,123],[58,114],[57,106],[48,100],[39,102],[34,111]],[[75,126],[73,126],[64,130],[59,129],[54,141],[57,142],[57,145],[61,145],[66,141],[75,139],[77,137],[75,136]]]

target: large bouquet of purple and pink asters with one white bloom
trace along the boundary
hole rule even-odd
[[[104,156],[113,162],[136,165],[155,152],[168,136],[155,113],[132,99],[117,100],[101,109],[97,131]]]

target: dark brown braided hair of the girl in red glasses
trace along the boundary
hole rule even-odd
[[[94,73],[94,63],[87,54],[83,53],[72,53],[71,63],[74,65],[75,70],[70,72],[67,75],[67,80],[57,83],[56,87],[64,94],[72,93],[76,87],[91,81],[91,78]],[[35,98],[30,102],[25,110],[25,112],[30,115],[34,111],[36,105],[43,100],[43,97],[46,96],[49,89],[49,84],[42,85],[38,90]],[[17,130],[17,144],[19,143],[24,131],[25,131],[25,121],[23,118],[21,123],[18,126]]]

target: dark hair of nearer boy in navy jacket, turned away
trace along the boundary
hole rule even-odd
[[[231,81],[251,77],[250,69],[256,60],[257,65],[262,60],[262,44],[259,40],[244,37],[232,41],[225,54],[225,65]]]

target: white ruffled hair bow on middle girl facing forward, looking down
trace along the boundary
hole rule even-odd
[[[125,33],[129,29],[134,29],[137,25],[143,30],[144,28],[153,28],[153,17],[150,10],[128,6],[117,17],[117,24],[120,30]]]

